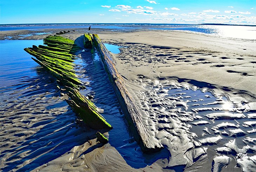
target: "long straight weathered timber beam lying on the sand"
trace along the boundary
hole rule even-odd
[[[88,36],[89,35],[85,34],[85,40],[87,41],[89,41]],[[85,43],[85,45],[87,45],[87,43]],[[161,150],[163,145],[153,136],[149,135],[145,125],[143,124],[141,113],[137,108],[134,99],[127,91],[123,78],[117,72],[112,55],[109,53],[98,35],[93,34],[92,43],[93,46],[95,46],[103,67],[108,74],[109,80],[113,85],[120,106],[128,120],[128,123],[130,124],[136,142],[139,143],[143,152],[155,152]]]

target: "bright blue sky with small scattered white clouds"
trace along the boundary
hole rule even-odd
[[[256,0],[0,0],[0,24],[256,25]]]

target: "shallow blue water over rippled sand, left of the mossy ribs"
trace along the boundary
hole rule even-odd
[[[1,170],[33,170],[87,140],[55,79],[23,50],[43,41],[0,43]]]

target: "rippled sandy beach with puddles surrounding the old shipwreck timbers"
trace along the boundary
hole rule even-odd
[[[76,28],[69,30],[70,33],[60,36],[75,40],[75,43],[82,46],[82,34],[85,30]],[[43,30],[45,33],[60,31],[60,29]],[[61,97],[54,89],[55,83],[51,81],[50,76],[43,73],[47,84],[37,83],[41,80],[39,76],[36,76],[36,81],[31,79],[26,82],[31,82],[31,88],[35,84],[49,91],[36,92],[30,100],[26,97],[15,100],[15,96],[6,96],[7,93],[15,95],[15,91],[11,89],[8,92],[3,86],[1,88],[2,94],[5,95],[1,100],[3,102],[1,110],[4,115],[1,120],[6,120],[0,132],[2,145],[0,151],[4,152],[0,165],[4,167],[4,171],[29,169],[29,167],[33,167],[32,171],[178,171],[180,169],[183,171],[211,171],[211,169],[253,171],[255,169],[256,40],[173,30],[138,29],[115,32],[111,29],[92,29],[86,32],[97,33],[103,42],[120,47],[120,53],[112,53],[117,72],[123,77],[129,93],[135,99],[149,135],[164,145],[164,150],[154,154],[142,154],[136,142],[131,141],[132,136],[129,136],[131,140],[126,140],[127,144],[122,146],[113,146],[111,142],[99,145],[93,137],[92,129],[87,129],[86,126],[79,127],[76,123],[69,124],[65,116],[55,119],[59,113],[67,114],[73,122],[76,117],[70,107],[65,104],[65,97]],[[0,39],[4,40],[6,36],[10,36],[11,40],[18,40],[19,35],[31,33],[34,31],[1,31]],[[27,36],[21,40],[41,40],[47,35],[52,34]],[[80,52],[80,57],[87,58],[90,52],[85,53],[87,54]],[[87,63],[89,60],[82,61]],[[101,73],[90,72],[97,69],[95,66],[100,63],[95,62],[94,66],[87,66],[86,69],[83,69],[82,62],[80,63],[81,66],[77,68],[78,73],[81,74],[80,77],[82,78],[86,73],[85,75],[90,78],[87,82],[91,82],[89,84],[91,86],[88,85],[91,89],[84,93],[94,92],[96,106],[103,109],[104,113],[120,111],[119,105],[107,105],[107,102],[112,99],[111,104],[118,104],[118,102],[111,87],[106,86],[108,85],[107,76],[103,74],[102,69],[99,69]],[[87,71],[82,73],[81,70]],[[101,77],[103,78],[102,88],[105,90],[103,95],[101,95],[101,88],[98,88],[99,86],[95,83],[96,79],[92,79],[97,78],[99,83]],[[30,86],[26,85],[26,90],[31,89]],[[23,91],[26,92],[26,90]],[[110,97],[105,96],[108,94]],[[40,101],[38,95],[41,98],[46,97],[42,99],[42,103],[44,102],[42,106],[36,104]],[[101,100],[106,104],[101,104]],[[55,103],[61,106],[55,107]],[[48,107],[44,110],[45,106],[52,106],[52,108]],[[30,111],[36,111],[31,107],[38,108],[36,117],[30,115]],[[14,112],[13,109],[16,111]],[[19,120],[12,118],[15,113],[21,114]],[[47,116],[43,116],[43,113],[47,113]],[[122,113],[120,112],[119,115],[122,116]],[[63,126],[70,125],[78,130],[72,129],[69,133],[69,129],[65,129],[56,134],[62,130],[61,126],[59,128],[48,126],[52,132],[47,131],[47,125],[58,124],[58,121],[61,123],[62,118],[65,119]],[[107,115],[106,119],[108,118],[110,116]],[[38,124],[39,119],[41,124]],[[126,123],[125,119],[122,122]],[[29,127],[26,130],[21,129],[25,124],[29,124]],[[129,128],[127,124],[124,126]],[[39,131],[42,129],[40,136]],[[33,140],[35,133],[39,138]],[[67,146],[68,150],[59,148],[62,153],[51,159],[50,156],[56,153],[53,150],[57,145],[49,147],[50,143],[47,140],[43,141],[47,142],[46,145],[38,140],[43,139],[45,135],[54,134],[63,140],[67,135],[69,141],[63,143],[64,147],[69,143],[72,144]],[[73,134],[76,135],[76,141],[71,141]],[[105,134],[110,138],[113,137],[111,131]],[[79,135],[84,139],[80,140]],[[88,136],[92,138],[89,139],[90,142],[87,139]],[[6,140],[4,137],[10,139]],[[54,137],[47,139],[54,140]],[[29,142],[26,143],[23,140],[29,140]],[[57,142],[57,140],[53,142],[55,141]],[[39,146],[35,150],[39,153],[32,156],[28,150],[33,150],[34,142],[48,148],[38,151]],[[22,148],[29,145],[31,149]],[[133,154],[126,152],[125,149],[140,152],[138,154],[143,158],[138,159],[142,159],[143,162],[136,162]],[[44,154],[47,156],[43,157]],[[40,164],[41,156],[43,160],[47,158],[50,160]],[[17,166],[8,167],[15,161],[19,162]],[[33,164],[33,161],[37,164],[30,166],[29,164],[31,162]],[[23,168],[26,165],[27,167]]]

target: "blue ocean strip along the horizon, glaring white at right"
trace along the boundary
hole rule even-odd
[[[202,33],[207,35],[238,39],[256,39],[255,26],[231,25],[191,25],[191,24],[152,24],[152,23],[45,23],[45,24],[10,24],[0,25],[1,31],[10,30],[45,30],[45,29],[86,29],[101,28],[115,30],[180,30],[182,32]]]

